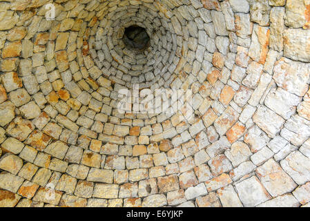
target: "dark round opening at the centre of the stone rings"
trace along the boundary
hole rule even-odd
[[[150,44],[150,37],[145,28],[139,26],[125,28],[123,40],[126,46],[138,50],[146,50]]]

